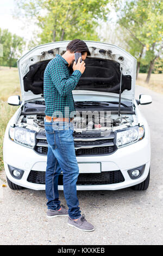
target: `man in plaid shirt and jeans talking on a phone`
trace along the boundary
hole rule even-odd
[[[82,62],[74,62],[74,52],[82,53]],[[47,217],[68,216],[68,225],[83,231],[94,227],[80,214],[76,182],[79,168],[73,141],[72,114],[75,113],[72,90],[76,88],[85,70],[86,56],[90,51],[84,41],[69,42],[66,52],[56,54],[46,66],[43,77],[45,98],[45,131],[48,143],[46,167]],[[72,75],[70,68],[73,69]],[[58,178],[63,173],[64,196],[68,210],[60,205]]]

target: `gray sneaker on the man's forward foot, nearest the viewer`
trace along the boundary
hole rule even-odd
[[[72,218],[70,218],[70,216],[68,216],[68,225],[70,225],[71,227],[74,227],[74,228],[78,228],[82,231],[95,230],[93,225],[85,220],[84,214],[82,214],[82,216],[80,216],[77,221],[74,221]]]

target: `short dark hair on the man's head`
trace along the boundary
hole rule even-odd
[[[85,42],[80,39],[73,39],[72,41],[70,41],[66,47],[66,51],[70,51],[71,53],[81,52],[82,54],[84,54],[84,52],[87,52],[87,56],[91,55],[89,48],[87,47]]]

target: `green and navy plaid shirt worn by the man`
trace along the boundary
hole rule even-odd
[[[77,86],[80,76],[82,76],[82,72],[79,70],[74,70],[70,75],[68,62],[60,54],[56,54],[55,58],[47,64],[43,75],[46,115],[73,117],[75,106],[72,90]]]

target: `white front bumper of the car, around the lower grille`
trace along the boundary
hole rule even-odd
[[[45,190],[44,184],[35,184],[27,181],[27,179],[31,170],[45,172],[47,156],[39,155],[33,149],[12,142],[6,132],[3,144],[3,160],[5,173],[11,182],[33,190]],[[146,133],[142,141],[120,148],[111,155],[77,157],[77,160],[79,164],[85,163],[85,172],[89,170],[90,163],[98,162],[101,163],[101,172],[121,170],[124,177],[123,182],[116,184],[77,185],[77,190],[118,190],[134,186],[147,178],[151,160],[150,139]],[[9,172],[8,164],[12,167],[24,170],[24,174],[20,180],[13,178]],[[140,178],[131,179],[127,171],[142,166],[143,164],[146,164],[146,167]],[[63,186],[59,185],[58,189],[63,190]]]

